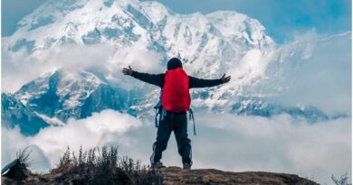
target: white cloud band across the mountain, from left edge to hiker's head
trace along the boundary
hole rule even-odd
[[[121,70],[131,65],[145,72],[163,72],[162,56],[148,51],[147,42],[117,50],[110,44],[83,46],[65,44],[49,50],[35,51],[28,55],[25,49],[6,51],[2,54],[2,91],[14,93],[25,83],[56,69],[99,69],[111,82],[125,87],[129,78],[122,78]],[[136,84],[133,82],[132,84]]]

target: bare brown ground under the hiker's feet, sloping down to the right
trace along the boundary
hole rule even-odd
[[[262,171],[230,172],[215,169],[186,171],[178,167],[168,167],[161,171],[163,184],[318,184],[314,181],[287,173]]]

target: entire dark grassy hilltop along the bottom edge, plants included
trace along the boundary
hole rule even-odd
[[[77,153],[68,148],[50,173],[35,174],[27,170],[29,154],[27,149],[17,154],[19,162],[3,176],[2,184],[318,184],[298,175],[265,171],[183,170],[179,167],[153,171],[140,161],[119,156],[118,148],[113,146],[85,152],[81,148]],[[347,174],[340,179],[332,176],[332,180],[338,185],[348,185]]]

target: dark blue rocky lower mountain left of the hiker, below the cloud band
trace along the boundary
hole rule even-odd
[[[43,127],[62,125],[70,117],[81,119],[104,109],[122,110],[123,92],[91,72],[57,70],[25,84],[14,94],[2,93],[2,121],[18,125],[25,135]]]

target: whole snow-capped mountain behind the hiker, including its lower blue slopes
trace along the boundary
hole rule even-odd
[[[311,59],[312,46],[294,43],[279,49],[262,24],[245,14],[176,14],[153,1],[49,0],[25,16],[2,44],[9,63],[23,57],[40,66],[52,62],[52,53],[66,56],[58,56],[50,69],[38,70],[37,79],[19,90],[3,94],[2,119],[10,120],[10,125],[20,122],[21,118],[13,116],[18,110],[41,120],[39,127],[61,125],[70,117],[80,119],[107,108],[151,116],[159,89],[122,77],[120,69],[131,65],[138,71],[163,72],[172,57],[183,60],[191,76],[232,75],[233,80],[224,86],[194,89],[196,111],[253,116],[286,113],[312,123],[330,118],[315,106],[282,106],[273,101],[288,85],[277,83],[286,71],[281,68],[295,73],[305,65],[303,61]],[[86,62],[72,58],[70,50],[58,52],[68,45],[98,45],[94,51],[105,53],[109,48],[110,56]],[[81,53],[86,54],[90,53]],[[71,63],[79,63],[80,68]]]

